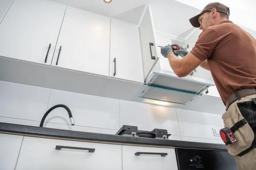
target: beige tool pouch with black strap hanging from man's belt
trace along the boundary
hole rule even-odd
[[[234,102],[223,114],[222,119],[225,127],[230,128],[237,140],[236,143],[227,145],[228,152],[233,156],[242,156],[241,153],[250,149],[254,140],[251,123],[256,122],[256,98],[246,96]]]

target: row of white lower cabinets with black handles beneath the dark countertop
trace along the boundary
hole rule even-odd
[[[177,170],[175,149],[0,134],[0,170]]]

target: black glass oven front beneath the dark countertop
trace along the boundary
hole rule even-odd
[[[227,151],[176,148],[179,170],[238,170]]]

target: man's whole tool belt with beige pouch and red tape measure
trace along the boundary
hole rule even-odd
[[[226,107],[221,139],[231,155],[243,156],[256,148],[256,88],[236,91],[227,100]]]

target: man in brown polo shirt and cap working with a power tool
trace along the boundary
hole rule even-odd
[[[224,140],[227,150],[235,156],[239,170],[256,170],[256,40],[229,21],[229,15],[227,6],[208,4],[189,20],[202,30],[192,50],[175,44],[180,50],[173,51],[175,45],[167,45],[161,54],[178,77],[187,76],[199,65],[211,71],[227,107],[224,125],[236,138]]]

